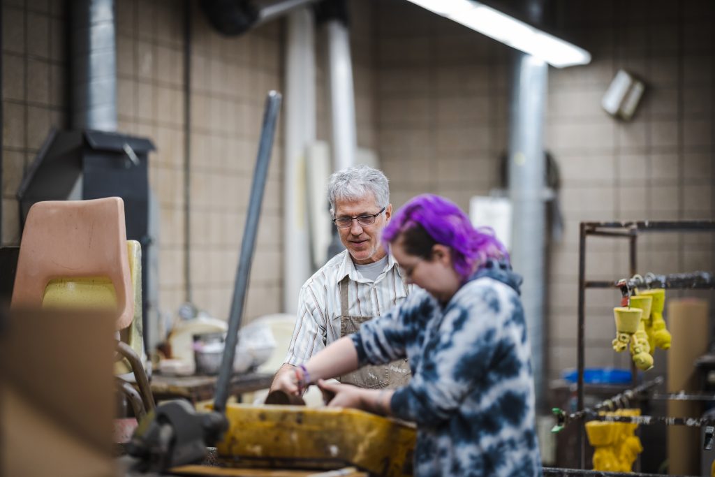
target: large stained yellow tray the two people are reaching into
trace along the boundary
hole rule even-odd
[[[356,409],[228,405],[230,428],[217,445],[236,466],[342,468],[411,476],[416,430]]]

